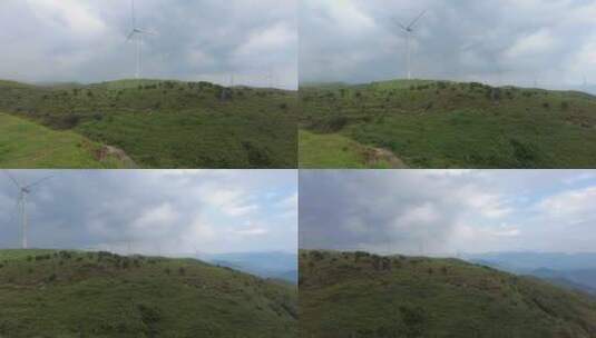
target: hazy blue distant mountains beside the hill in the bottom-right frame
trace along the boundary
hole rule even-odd
[[[466,255],[467,260],[596,295],[596,254],[494,252]]]

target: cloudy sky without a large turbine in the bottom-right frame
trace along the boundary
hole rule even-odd
[[[300,247],[596,251],[596,171],[301,171]]]

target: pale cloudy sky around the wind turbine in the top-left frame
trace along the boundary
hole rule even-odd
[[[295,0],[136,0],[144,78],[296,88]],[[1,0],[0,78],[134,78],[129,0]]]

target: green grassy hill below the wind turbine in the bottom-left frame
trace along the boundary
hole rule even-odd
[[[0,337],[295,337],[296,297],[192,259],[0,251]]]

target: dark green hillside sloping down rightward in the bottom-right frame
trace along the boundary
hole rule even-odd
[[[596,301],[457,259],[301,251],[301,337],[596,337]]]

